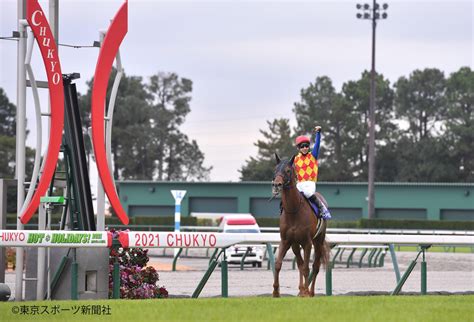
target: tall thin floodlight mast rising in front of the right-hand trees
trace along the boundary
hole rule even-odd
[[[375,28],[377,26],[375,0],[372,5],[372,69],[370,72],[370,103],[369,103],[369,219],[375,218]]]

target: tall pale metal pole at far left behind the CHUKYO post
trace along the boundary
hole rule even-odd
[[[17,119],[16,119],[16,167],[17,181],[17,209],[23,207],[25,201],[25,140],[26,140],[26,1],[18,0],[18,31],[20,38],[17,45]],[[20,218],[17,218],[17,230],[23,230]],[[15,300],[23,299],[23,247],[16,248],[15,269]]]

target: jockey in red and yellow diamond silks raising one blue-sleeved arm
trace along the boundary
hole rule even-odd
[[[318,180],[318,155],[321,141],[321,127],[316,126],[314,131],[316,132],[316,139],[311,153],[308,153],[310,139],[307,136],[300,135],[295,141],[298,149],[298,154],[294,161],[297,176],[296,188],[302,192],[306,198],[318,206],[323,218],[330,218],[329,210],[314,194],[316,192],[316,181]]]

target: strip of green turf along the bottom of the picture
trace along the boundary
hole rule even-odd
[[[0,321],[474,321],[474,296],[332,296],[1,303]],[[71,311],[20,315],[24,306]],[[92,306],[110,315],[81,314]],[[77,314],[74,310],[80,308]]]

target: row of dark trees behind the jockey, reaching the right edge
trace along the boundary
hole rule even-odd
[[[323,127],[321,180],[367,180],[369,88],[370,73],[364,71],[359,80],[344,83],[340,93],[326,76],[301,90],[293,108],[295,131],[308,135],[315,125]],[[473,88],[469,67],[448,79],[438,69],[415,70],[393,87],[377,75],[375,179],[473,181]],[[269,162],[251,157],[242,179],[258,178],[270,169]]]

